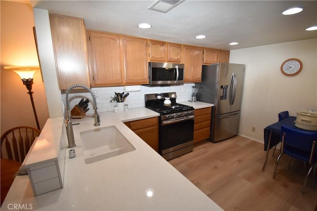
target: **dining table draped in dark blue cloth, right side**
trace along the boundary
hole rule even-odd
[[[266,151],[266,154],[262,170],[264,170],[266,166],[269,150],[274,146],[276,147],[276,145],[281,141],[280,133],[282,125],[298,128],[295,126],[295,121],[296,117],[289,116],[264,128],[264,151]]]

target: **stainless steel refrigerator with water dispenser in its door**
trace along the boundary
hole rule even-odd
[[[245,65],[218,63],[203,66],[197,101],[212,103],[213,142],[238,134]]]

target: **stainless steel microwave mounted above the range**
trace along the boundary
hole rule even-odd
[[[149,62],[149,85],[184,84],[184,64]]]

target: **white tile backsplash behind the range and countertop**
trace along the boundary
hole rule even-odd
[[[176,92],[177,102],[187,101],[190,99],[192,86],[194,84],[183,84],[183,85],[174,85],[174,86],[143,86],[141,85],[140,91],[131,91],[129,92],[129,96],[125,100],[125,104],[128,104],[129,108],[137,108],[144,107],[145,100],[144,95],[149,93],[164,93],[164,92]],[[113,86],[113,87],[100,87],[100,88],[92,88],[92,91],[96,95],[97,99],[97,107],[98,112],[107,112],[113,111],[113,107],[115,106],[115,102],[110,103],[110,97],[113,97],[114,92],[125,92],[124,86]],[[62,101],[64,103],[65,96],[61,94]],[[70,93],[69,94],[70,101],[70,109],[72,109],[76,104],[79,103],[81,98],[88,98],[89,103],[89,111],[87,114],[94,113],[93,110],[93,99],[89,92],[84,93]]]

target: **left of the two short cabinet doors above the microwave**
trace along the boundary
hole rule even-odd
[[[149,57],[153,62],[164,62],[166,57],[166,43],[149,40]]]

